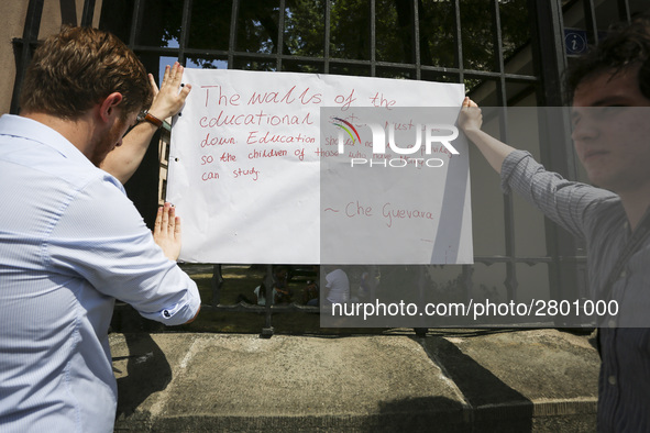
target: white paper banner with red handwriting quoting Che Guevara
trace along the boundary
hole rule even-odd
[[[320,163],[337,149],[337,143],[321,143],[321,108],[335,108],[341,118],[350,119],[355,108],[376,107],[389,119],[396,108],[455,107],[455,119],[464,97],[462,85],[190,68],[185,69],[184,81],[191,84],[192,91],[173,123],[166,198],[183,219],[180,259],[222,264],[320,264],[322,259],[338,264],[472,263],[469,155],[462,136],[453,142],[460,151],[451,158],[455,166],[445,160],[453,170],[410,170],[405,182],[396,184],[393,178],[409,167],[386,168],[392,170],[386,181],[376,180],[379,185],[363,197],[356,192],[346,196],[351,188],[342,185],[334,201],[331,186],[322,189],[320,185]],[[361,152],[362,144],[356,145],[355,152]],[[366,153],[372,155],[372,149]],[[427,182],[437,182],[430,195],[421,193],[429,188],[421,184],[423,177],[417,177],[423,173]],[[373,176],[384,178],[376,170]],[[414,182],[420,182],[420,193],[412,193]],[[447,182],[453,191],[445,188]],[[328,202],[321,203],[321,189]],[[398,196],[403,200],[396,200]],[[362,226],[360,219],[330,220],[327,209],[344,209],[351,200],[374,207],[376,218],[365,218]],[[390,203],[388,210],[386,203]],[[444,215],[445,209],[453,214]],[[384,216],[387,211],[389,216]],[[321,227],[321,215],[329,220],[327,226]],[[386,231],[387,218],[393,220],[392,235],[417,231],[419,245],[398,242],[392,251],[382,252],[373,247],[370,240]],[[440,235],[447,233],[445,221],[456,222],[451,237]],[[338,256],[333,253],[337,248],[328,245],[327,233],[321,232],[334,227],[340,231],[339,240],[354,240],[359,245],[359,240],[365,238],[367,247],[351,255],[343,243]],[[445,236],[450,238],[442,240]],[[321,237],[326,249],[321,249]]]

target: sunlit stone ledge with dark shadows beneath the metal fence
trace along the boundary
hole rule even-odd
[[[595,431],[593,338],[557,330],[110,342],[118,432]]]

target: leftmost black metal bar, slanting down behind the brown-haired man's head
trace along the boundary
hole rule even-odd
[[[41,16],[43,15],[44,0],[30,0],[27,5],[27,13],[25,15],[25,25],[23,27],[22,40],[13,40],[15,53],[18,58],[15,62],[15,81],[13,84],[13,93],[11,96],[12,114],[18,114],[20,109],[20,89],[22,88],[25,78],[25,71],[32,60],[32,47],[38,41],[38,32],[41,31]]]

